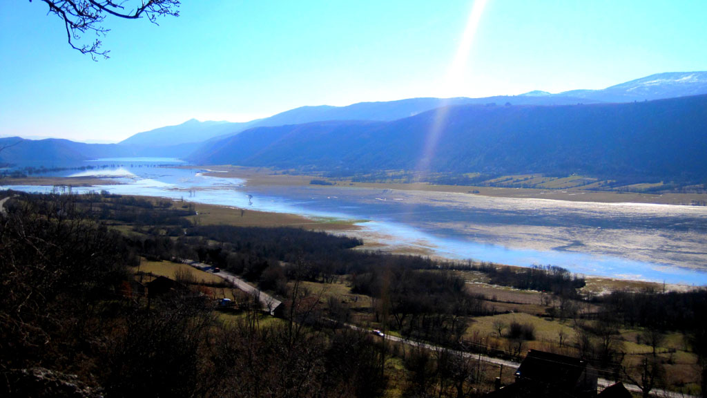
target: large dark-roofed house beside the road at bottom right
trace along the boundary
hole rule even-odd
[[[486,394],[486,397],[597,396],[597,372],[585,360],[544,351],[530,350],[515,372],[515,382]]]

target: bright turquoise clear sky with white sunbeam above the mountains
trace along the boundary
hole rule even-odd
[[[707,70],[706,15],[703,0],[185,0],[159,25],[106,18],[110,59],[93,62],[42,1],[4,0],[0,136],[117,142],[300,106],[603,89]]]

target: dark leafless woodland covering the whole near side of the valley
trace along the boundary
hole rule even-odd
[[[564,314],[563,303],[578,302],[584,280],[562,268],[440,263],[351,250],[361,241],[301,229],[199,226],[187,218],[193,207],[168,201],[16,195],[0,215],[2,397],[33,396],[52,383],[74,386],[82,397],[380,396],[391,382],[385,358],[392,348],[366,331],[341,327],[358,309],[329,298],[323,311],[323,296],[300,286],[344,275],[352,297],[370,297],[371,322],[438,346],[402,354],[404,371],[396,380],[404,396],[472,396],[480,363],[442,347],[472,350],[476,340],[464,341],[464,331],[472,317],[493,310],[469,293],[457,269],[554,292],[560,315],[576,325],[573,349],[611,372],[607,377],[631,374],[621,368],[621,324],[645,326],[641,339],[654,350],[661,333],[687,331],[707,375],[704,291],[615,292],[592,302],[596,312],[586,316],[594,319],[581,319],[576,310]],[[119,233],[114,225],[131,230]],[[214,301],[195,289],[136,294],[129,266],[141,256],[189,258],[239,273],[279,294],[281,319],[267,318],[262,326],[262,314],[250,306],[225,324]],[[508,328],[506,337],[516,344],[508,350],[516,356],[523,341],[535,338],[530,324],[499,328],[499,337]]]

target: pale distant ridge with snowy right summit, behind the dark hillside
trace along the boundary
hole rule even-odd
[[[139,155],[144,147],[165,147],[168,145],[204,142],[214,137],[238,134],[252,127],[297,125],[326,120],[392,121],[442,106],[485,105],[488,103],[552,106],[576,103],[633,102],[705,93],[707,93],[707,72],[670,72],[653,74],[602,90],[574,90],[556,94],[545,91],[532,91],[520,96],[409,98],[399,101],[354,103],[349,106],[303,106],[278,113],[269,118],[251,120],[245,123],[199,122],[192,119],[181,125],[139,132],[119,144],[131,147],[133,153]],[[192,148],[189,147],[187,150]],[[185,153],[180,152],[178,149],[175,150],[175,154],[185,156]]]

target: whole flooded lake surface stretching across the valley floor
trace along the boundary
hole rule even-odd
[[[365,220],[358,236],[453,259],[555,265],[612,278],[707,284],[707,207],[490,198],[338,186],[248,186],[204,169],[155,167],[177,159],[103,159],[86,171],[121,185],[72,188]],[[121,164],[122,166],[119,166]],[[47,192],[52,187],[6,186]]]

